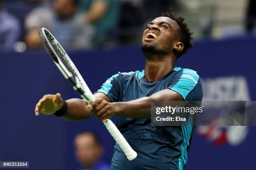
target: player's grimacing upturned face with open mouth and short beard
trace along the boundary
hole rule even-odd
[[[155,18],[143,32],[141,49],[151,52],[170,52],[178,41],[179,25],[168,17]]]

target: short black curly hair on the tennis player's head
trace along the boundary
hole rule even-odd
[[[178,30],[179,39],[184,44],[184,48],[181,52],[178,52],[178,51],[175,52],[176,57],[179,58],[183,54],[186,54],[189,48],[194,47],[194,45],[191,42],[191,40],[193,39],[192,38],[193,33],[190,32],[190,29],[188,28],[187,23],[184,23],[185,18],[180,16],[179,17],[175,16],[172,10],[170,10],[167,13],[162,13],[161,16],[171,18],[172,20],[176,21],[176,23],[179,25],[179,30]]]

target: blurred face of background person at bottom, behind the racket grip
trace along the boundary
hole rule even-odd
[[[78,135],[74,144],[77,160],[83,166],[93,165],[101,156],[101,147],[90,133]]]

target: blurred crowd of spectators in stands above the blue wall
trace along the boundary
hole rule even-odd
[[[140,43],[147,22],[171,8],[180,13],[184,4],[185,0],[0,0],[0,50],[41,48],[38,29],[42,27],[66,49]],[[247,33],[255,32],[255,9],[255,0],[248,0],[244,15]],[[211,15],[196,19],[202,28],[195,29],[195,37],[200,37],[197,30],[210,37]]]

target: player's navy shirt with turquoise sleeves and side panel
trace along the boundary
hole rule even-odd
[[[103,92],[112,102],[126,102],[146,97],[160,90],[170,89],[184,100],[202,101],[202,83],[196,71],[175,67],[167,75],[148,82],[143,71],[118,73],[110,77],[97,92]],[[192,136],[192,122],[184,126],[152,126],[151,119],[119,117],[118,129],[138,153],[128,161],[115,145],[111,170],[183,170]]]

